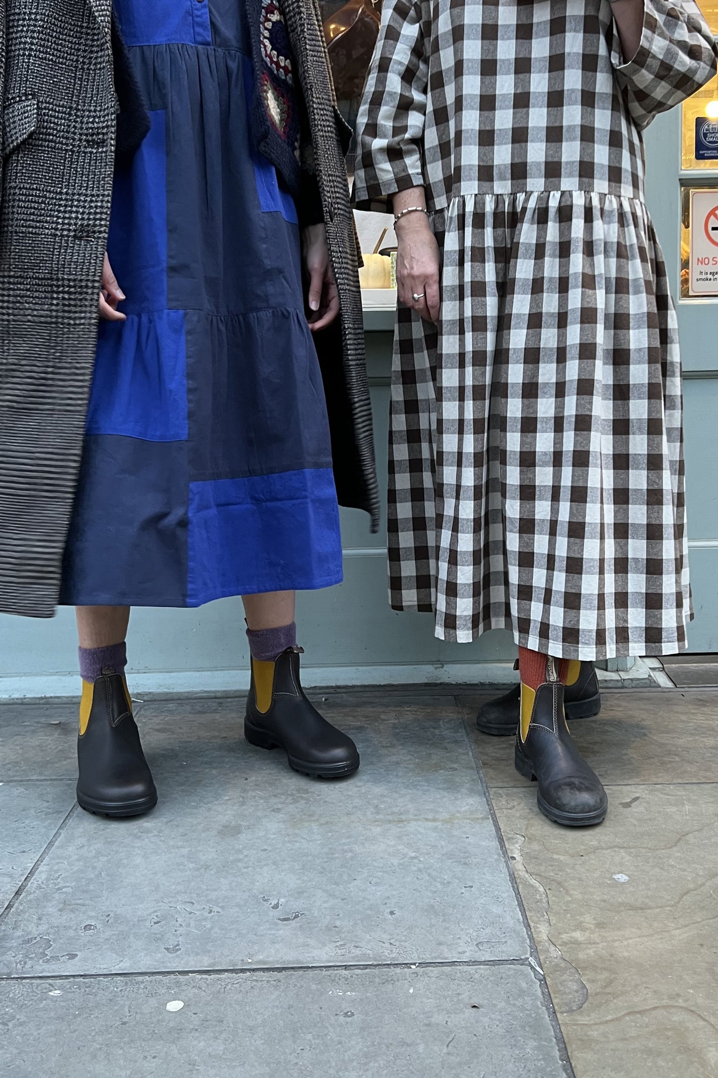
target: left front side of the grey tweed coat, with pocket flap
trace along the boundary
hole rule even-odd
[[[50,617],[97,343],[115,138],[111,0],[5,0],[0,609]],[[52,28],[52,32],[51,31]]]

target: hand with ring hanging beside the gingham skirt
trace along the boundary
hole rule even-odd
[[[396,288],[402,303],[428,322],[438,322],[439,245],[425,213],[407,213],[396,222]],[[422,296],[414,300],[414,294]]]

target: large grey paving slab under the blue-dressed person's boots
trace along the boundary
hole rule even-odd
[[[75,812],[0,925],[0,972],[526,956],[461,720],[330,714],[362,752],[350,782],[249,746],[237,701],[147,705],[158,807]]]

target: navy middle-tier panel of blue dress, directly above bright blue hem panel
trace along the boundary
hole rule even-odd
[[[189,310],[186,327],[191,480],[332,467],[324,386],[304,315]]]

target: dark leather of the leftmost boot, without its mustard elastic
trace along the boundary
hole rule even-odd
[[[157,790],[119,674],[99,677],[84,734],[78,737],[78,802],[104,816],[140,816]]]

